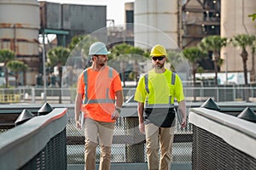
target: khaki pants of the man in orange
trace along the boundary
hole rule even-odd
[[[96,169],[96,146],[100,144],[101,158],[99,170],[109,170],[111,162],[111,144],[114,122],[96,122],[90,118],[84,119],[84,169]]]

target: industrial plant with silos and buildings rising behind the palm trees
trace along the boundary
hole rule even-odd
[[[149,49],[155,43],[167,49],[195,46],[203,37],[237,34],[256,35],[256,24],[248,14],[255,13],[255,0],[135,0],[125,3],[125,25],[115,26],[107,18],[104,5],[38,2],[37,0],[0,0],[0,48],[15,52],[16,59],[28,65],[23,85],[35,85],[42,73],[43,49],[40,35],[54,34],[56,44],[66,47],[73,36],[97,34],[102,42],[127,42]],[[107,23],[111,22],[111,26]],[[47,40],[47,39],[46,39]],[[47,47],[50,48],[50,47]],[[248,72],[255,81],[255,59],[248,49]],[[242,71],[241,50],[228,45],[221,51],[225,64],[220,71]],[[212,70],[209,56],[208,70]]]

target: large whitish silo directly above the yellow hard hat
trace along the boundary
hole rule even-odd
[[[156,43],[177,48],[177,1],[136,0],[134,3],[134,43],[151,48]]]

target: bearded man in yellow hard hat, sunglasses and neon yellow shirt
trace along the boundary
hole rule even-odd
[[[186,126],[183,85],[176,73],[165,68],[166,48],[157,44],[150,56],[154,68],[140,78],[134,97],[138,102],[139,130],[146,134],[148,169],[169,170],[175,129],[174,99],[183,115],[181,127]]]

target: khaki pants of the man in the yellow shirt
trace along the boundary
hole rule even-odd
[[[145,125],[148,170],[170,170],[175,127]],[[160,150],[160,164],[159,164]]]

